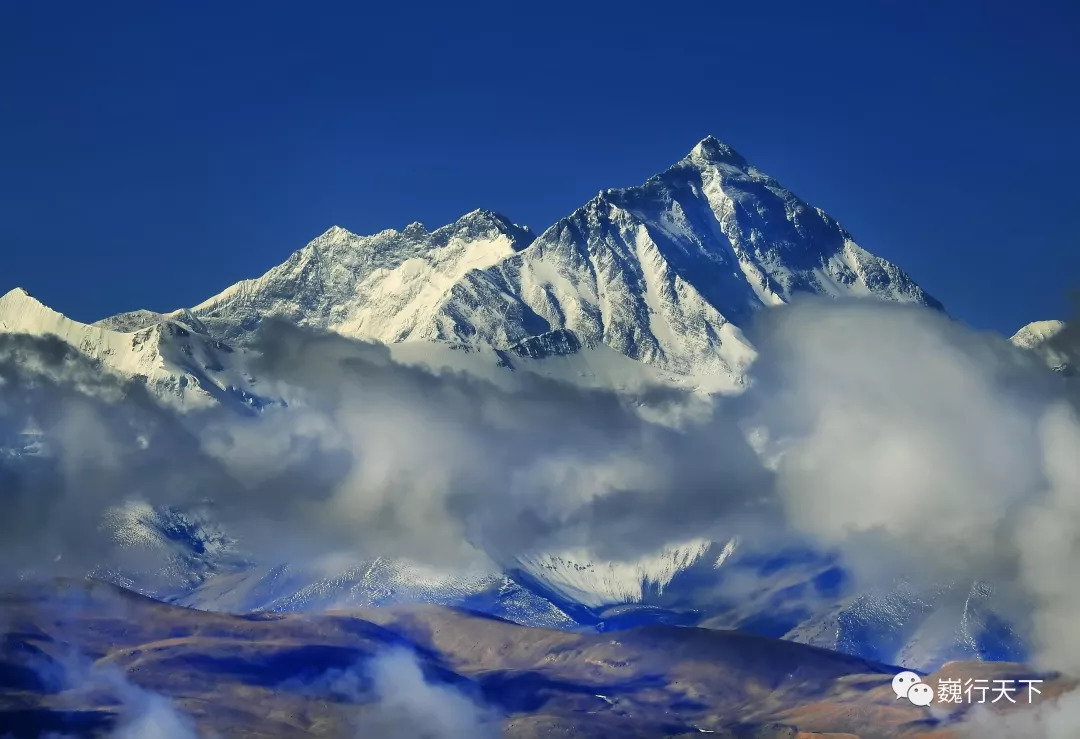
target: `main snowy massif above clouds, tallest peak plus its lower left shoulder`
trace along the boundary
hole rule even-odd
[[[430,233],[419,224],[372,237],[335,227],[191,313],[241,344],[262,318],[281,315],[383,342],[534,359],[605,345],[672,373],[738,381],[754,355],[741,326],[799,293],[940,307],[820,209],[708,137],[666,172],[600,192],[537,239],[486,211]]]

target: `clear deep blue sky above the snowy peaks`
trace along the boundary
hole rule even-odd
[[[332,225],[540,230],[729,143],[955,315],[1080,285],[1080,3],[0,3],[0,293],[192,305]]]

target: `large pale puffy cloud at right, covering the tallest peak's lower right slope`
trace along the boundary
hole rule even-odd
[[[812,301],[762,317],[748,417],[785,519],[864,582],[985,580],[1080,670],[1080,420],[1067,381],[921,309]]]

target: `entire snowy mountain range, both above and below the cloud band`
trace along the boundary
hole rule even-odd
[[[527,372],[618,391],[659,384],[738,393],[755,358],[745,330],[762,308],[800,295],[945,310],[821,209],[710,136],[665,172],[597,193],[539,236],[489,211],[434,230],[414,223],[356,236],[334,227],[261,277],[167,313],[136,310],[86,325],[16,288],[0,298],[0,331],[58,337],[181,413],[258,415],[283,402],[253,368],[268,319],[387,345],[400,362],[486,378]],[[1034,323],[1013,341],[1064,367],[1047,348],[1063,325]],[[534,626],[708,622],[922,666],[1021,649],[1008,624],[981,605],[988,593],[978,583],[944,594],[845,593],[828,557],[740,556],[745,547],[734,539],[688,542],[629,564],[556,552],[501,572],[447,575],[393,560],[328,569],[248,562],[241,545],[198,511],[134,507],[107,525],[123,546],[154,552],[157,572],[95,574],[200,608],[426,601]],[[761,583],[754,597],[702,600],[712,588],[703,581],[739,572]],[[942,614],[955,624],[944,637],[920,632]]]

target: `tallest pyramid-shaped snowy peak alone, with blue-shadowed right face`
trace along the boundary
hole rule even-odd
[[[464,327],[445,338],[498,346],[566,328],[677,373],[739,376],[753,358],[741,326],[799,292],[937,305],[710,137],[645,185],[600,192],[529,248],[469,273],[442,312]]]

